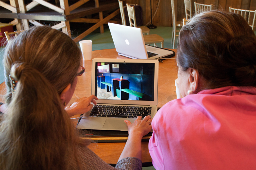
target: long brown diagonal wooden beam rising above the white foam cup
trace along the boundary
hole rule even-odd
[[[110,20],[111,18],[115,17],[117,14],[119,14],[120,9],[116,10],[115,12],[113,12],[112,14],[108,15],[106,18],[102,19],[100,22],[98,22],[97,24],[95,24],[94,26],[92,26],[91,28],[89,28],[88,30],[86,30],[85,32],[81,33],[80,35],[78,35],[76,38],[74,38],[73,40],[75,42],[80,41],[81,39],[83,39],[86,35],[90,34],[92,31],[96,30],[97,28],[99,28],[102,24],[104,24],[105,22],[107,22],[108,20]]]

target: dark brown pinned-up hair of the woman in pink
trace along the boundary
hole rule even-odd
[[[206,89],[256,86],[256,36],[239,14],[195,15],[180,30],[176,60],[183,71],[198,70]]]

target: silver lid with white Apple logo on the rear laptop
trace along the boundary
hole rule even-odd
[[[147,59],[148,54],[140,28],[108,23],[116,52],[127,57]]]

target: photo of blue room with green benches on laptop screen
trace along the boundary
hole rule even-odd
[[[102,100],[154,100],[155,63],[96,62],[95,93]]]

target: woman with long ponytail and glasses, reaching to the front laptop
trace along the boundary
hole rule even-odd
[[[142,169],[141,138],[151,130],[150,116],[126,121],[129,137],[116,168],[86,147],[90,140],[79,138],[69,116],[89,111],[98,99],[82,98],[64,110],[84,72],[81,61],[76,43],[47,26],[24,31],[8,44],[0,169]]]

